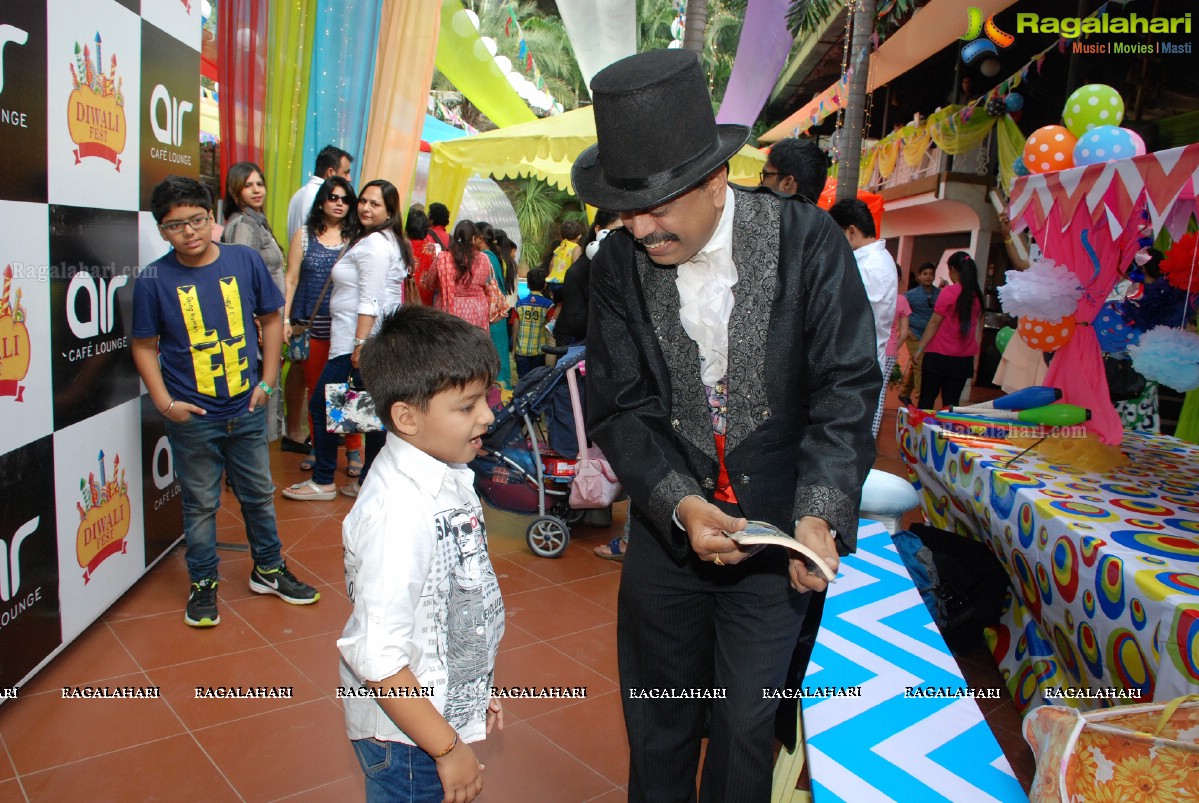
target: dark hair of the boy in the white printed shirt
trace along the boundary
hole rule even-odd
[[[404,304],[382,319],[362,348],[359,367],[379,418],[394,433],[393,405],[403,402],[423,411],[441,391],[476,381],[490,385],[500,357],[486,330],[433,307]]]

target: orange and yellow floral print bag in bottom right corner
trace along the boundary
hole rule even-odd
[[[1199,695],[1081,712],[1035,708],[1024,738],[1037,756],[1031,803],[1199,799]]]

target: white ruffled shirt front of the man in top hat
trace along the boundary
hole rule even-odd
[[[731,187],[724,189],[724,211],[716,231],[699,253],[679,265],[679,319],[687,336],[699,346],[699,368],[704,385],[716,385],[729,369],[729,316],[733,314],[733,285],[737,266],[733,264]]]

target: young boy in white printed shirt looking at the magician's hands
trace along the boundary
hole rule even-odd
[[[504,727],[490,699],[504,603],[463,465],[494,418],[499,360],[486,331],[414,306],[382,321],[360,367],[387,442],[342,525],[347,731],[368,803],[469,802],[483,789],[469,743]]]

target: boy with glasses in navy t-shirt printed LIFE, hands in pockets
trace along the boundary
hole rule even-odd
[[[227,473],[246,520],[249,590],[296,605],[320,599],[283,562],[266,447],[266,400],[279,373],[283,295],[252,248],[212,242],[212,195],[193,179],[153,188],[151,211],[173,250],[133,285],[133,362],[167,418],[183,491],[192,590],[183,621],[221,623],[216,514]],[[255,322],[263,331],[261,375]]]

